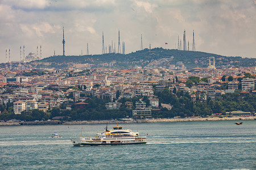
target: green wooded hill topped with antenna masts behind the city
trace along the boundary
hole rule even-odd
[[[92,68],[109,67],[110,63],[110,66],[115,69],[129,69],[135,66],[142,68],[169,67],[170,65],[176,66],[183,63],[187,69],[192,69],[195,67],[207,67],[209,65],[209,57],[215,57],[216,67],[250,67],[255,66],[256,62],[256,58],[225,57],[212,53],[154,48],[129,54],[109,53],[89,56],[52,56],[31,63],[35,63],[36,67],[46,67],[44,63],[48,63],[48,68],[55,67],[56,69],[64,69],[72,67],[73,64],[86,63]]]

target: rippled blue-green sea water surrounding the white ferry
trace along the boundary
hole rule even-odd
[[[256,169],[256,121],[235,122],[122,124],[147,144],[82,147],[105,125],[0,126],[0,169]]]

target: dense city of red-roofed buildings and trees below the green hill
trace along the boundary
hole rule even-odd
[[[206,68],[189,70],[182,62],[134,69],[86,64],[38,69],[31,63],[6,63],[1,68],[0,120],[254,116],[255,66],[216,68],[214,59]]]

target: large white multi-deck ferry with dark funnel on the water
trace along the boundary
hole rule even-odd
[[[113,129],[106,130],[102,133],[97,133],[96,137],[81,137],[72,139],[74,146],[80,145],[129,145],[141,144],[147,142],[147,137],[139,136],[138,132],[133,132],[130,129],[123,129],[121,126],[114,126]]]

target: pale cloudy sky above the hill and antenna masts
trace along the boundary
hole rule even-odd
[[[66,56],[85,55],[87,43],[101,54],[102,32],[117,50],[118,30],[126,54],[141,50],[141,35],[143,48],[175,49],[184,30],[192,50],[195,30],[197,51],[256,58],[256,0],[1,0],[0,63],[6,49],[20,61],[23,45],[25,56],[40,45],[42,58],[62,55],[63,27]]]

